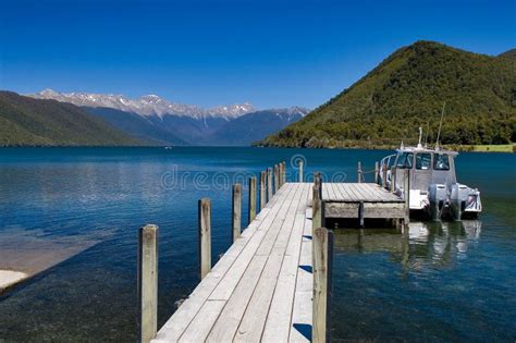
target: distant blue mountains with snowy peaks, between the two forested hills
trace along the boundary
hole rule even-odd
[[[112,126],[157,145],[249,145],[309,112],[299,107],[259,111],[247,102],[205,109],[170,102],[156,95],[130,99],[114,94],[45,89],[28,96],[79,106]]]

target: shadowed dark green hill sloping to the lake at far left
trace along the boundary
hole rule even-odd
[[[0,91],[0,146],[140,144],[76,106]]]

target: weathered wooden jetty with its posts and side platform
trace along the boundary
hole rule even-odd
[[[300,169],[303,167],[300,166]],[[158,331],[157,231],[140,230],[138,290],[143,342],[325,342],[332,231],[325,218],[403,223],[406,201],[372,183],[287,183],[285,163],[249,181],[248,226],[241,233],[242,189],[233,187],[234,243],[211,268],[210,201],[199,201],[201,281]],[[361,179],[359,169],[359,177]],[[359,180],[360,180],[359,179]],[[360,180],[361,181],[361,180]],[[260,195],[260,210],[256,198]],[[263,197],[267,197],[265,199]]]

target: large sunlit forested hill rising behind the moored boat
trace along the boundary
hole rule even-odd
[[[515,142],[515,50],[490,57],[417,41],[259,145],[396,146],[415,143],[418,126],[433,142],[443,102],[443,144]]]

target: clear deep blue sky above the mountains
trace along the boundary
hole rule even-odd
[[[516,48],[516,1],[0,0],[0,88],[315,108],[419,39]]]

